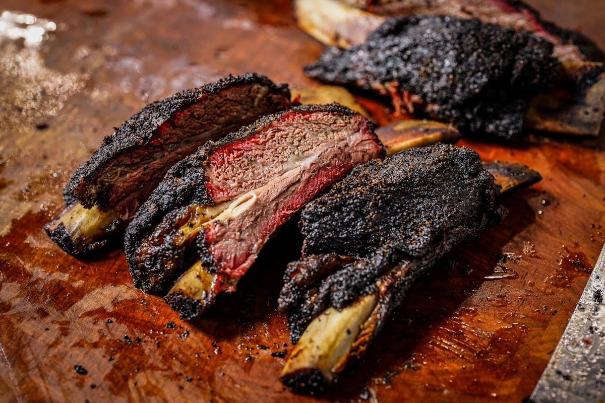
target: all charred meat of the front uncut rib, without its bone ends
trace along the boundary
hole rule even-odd
[[[392,309],[440,257],[502,221],[498,194],[464,147],[404,150],[353,169],[302,210],[304,257],[290,263],[280,295],[292,340],[328,306],[361,295],[380,291]]]

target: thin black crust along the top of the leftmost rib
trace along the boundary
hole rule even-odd
[[[93,153],[90,160],[80,165],[74,172],[68,183],[67,194],[77,198],[87,208],[93,205],[100,208],[109,207],[108,193],[111,192],[111,189],[95,189],[95,187],[99,176],[118,155],[152,143],[157,130],[162,124],[177,117],[180,112],[195,103],[203,95],[220,92],[223,89],[238,85],[255,83],[265,86],[271,93],[282,95],[281,102],[283,105],[275,108],[276,110],[289,107],[290,94],[287,85],[276,86],[267,77],[255,73],[241,76],[229,75],[217,82],[200,88],[186,89],[171,97],[150,103],[119,127],[116,127],[113,134],[103,138],[103,143]]]

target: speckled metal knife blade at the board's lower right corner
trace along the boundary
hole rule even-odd
[[[605,245],[529,402],[605,402]]]

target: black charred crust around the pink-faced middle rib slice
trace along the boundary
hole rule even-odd
[[[157,189],[154,190],[149,199],[139,209],[134,219],[132,219],[125,236],[126,259],[130,267],[130,272],[135,285],[147,292],[161,294],[167,291],[169,282],[174,277],[174,273],[168,273],[160,264],[162,259],[174,260],[175,272],[181,271],[195,259],[201,259],[203,263],[211,265],[212,257],[209,256],[208,248],[205,246],[204,231],[201,231],[195,237],[196,247],[194,248],[197,256],[187,254],[183,256],[180,248],[175,249],[169,242],[159,240],[160,247],[157,248],[154,256],[140,257],[139,246],[143,237],[148,236],[154,228],[163,221],[181,222],[186,221],[183,211],[191,204],[214,205],[207,184],[207,172],[211,163],[209,158],[215,150],[221,149],[231,143],[244,140],[250,135],[263,131],[275,121],[286,118],[291,114],[312,114],[313,112],[329,112],[341,116],[361,117],[357,112],[345,108],[341,105],[303,105],[290,109],[290,111],[278,112],[272,115],[261,117],[258,121],[249,126],[242,127],[239,131],[233,132],[218,141],[208,141],[197,152],[187,156],[184,160],[175,164]],[[371,132],[371,123],[364,119],[365,124]],[[375,137],[376,142],[378,139]],[[381,146],[382,147],[382,146]],[[384,148],[381,155],[384,155]],[[172,226],[174,227],[174,226]],[[172,228],[171,227],[171,228]],[[174,228],[169,234],[163,236],[176,236]],[[174,259],[173,259],[174,258]],[[180,273],[178,273],[180,274]],[[178,275],[177,274],[177,275]],[[152,280],[154,279],[154,280]]]

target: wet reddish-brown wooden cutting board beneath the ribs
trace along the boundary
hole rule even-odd
[[[605,47],[605,1],[530,3]],[[284,265],[298,256],[296,225],[267,245],[237,294],[194,321],[132,286],[120,239],[76,259],[42,230],[74,168],[146,103],[226,73],[317,85],[301,66],[323,47],[295,27],[290,2],[0,8],[56,27],[30,31],[27,46],[0,31],[1,401],[518,402],[531,393],[604,242],[603,135],[461,141],[544,179],[506,195],[499,228],[414,286],[335,387],[293,395],[278,379],[292,346],[275,308]],[[388,121],[387,105],[358,100]]]

